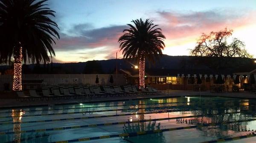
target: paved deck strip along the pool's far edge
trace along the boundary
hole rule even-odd
[[[26,107],[26,106],[42,106],[49,104],[76,104],[86,102],[102,102],[102,101],[120,101],[120,100],[136,100],[146,98],[167,98],[167,97],[180,97],[180,96],[218,96],[218,97],[230,97],[230,98],[254,98],[256,99],[256,93],[239,92],[239,93],[210,93],[209,91],[197,92],[189,90],[169,90],[163,91],[165,94],[161,95],[138,95],[138,96],[126,96],[126,97],[108,97],[108,98],[93,98],[91,101],[87,99],[61,99],[61,100],[49,100],[49,101],[24,101],[20,102],[16,99],[0,99],[0,108],[11,107]]]

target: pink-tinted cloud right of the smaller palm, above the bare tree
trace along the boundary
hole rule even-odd
[[[231,14],[230,14],[231,13]],[[236,11],[205,11],[205,12],[158,12],[157,20],[163,20],[161,27],[166,39],[180,39],[190,36],[199,36],[201,33],[218,31],[225,27],[236,29],[250,25],[256,21],[256,11],[237,13]]]

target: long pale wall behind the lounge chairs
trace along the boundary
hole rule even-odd
[[[96,76],[99,77],[100,85],[110,85],[110,74],[24,74],[23,80],[43,80],[44,84],[96,84]],[[4,84],[12,85],[13,75],[0,75],[0,91]],[[113,74],[113,85],[125,85],[126,79],[123,74]],[[11,87],[10,87],[11,88]]]

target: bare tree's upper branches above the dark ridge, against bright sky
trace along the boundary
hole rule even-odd
[[[192,56],[209,56],[209,57],[246,57],[252,58],[245,50],[244,42],[237,38],[228,44],[227,38],[230,37],[233,30],[225,28],[221,31],[212,31],[210,34],[202,34],[197,41],[194,49],[190,50]]]

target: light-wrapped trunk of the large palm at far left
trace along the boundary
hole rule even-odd
[[[12,90],[20,91],[22,90],[21,80],[21,62],[22,62],[22,47],[18,46],[19,48],[14,48],[14,76],[13,76],[13,84]]]

